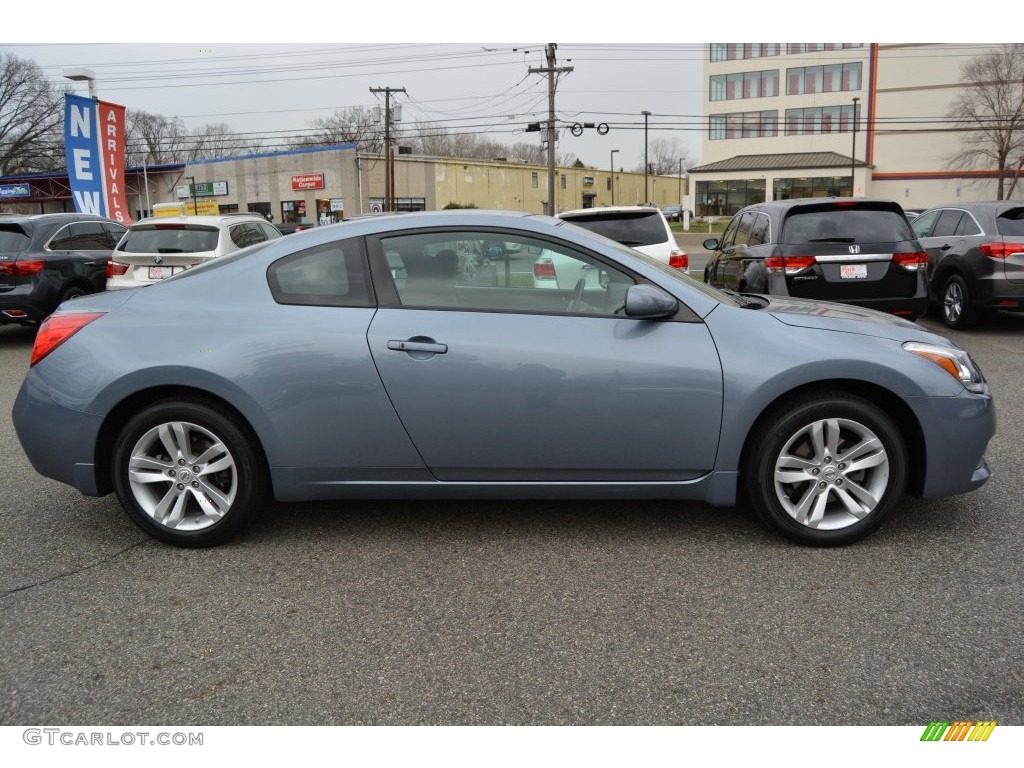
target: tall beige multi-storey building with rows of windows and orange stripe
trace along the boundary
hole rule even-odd
[[[705,47],[697,215],[763,200],[878,197],[904,208],[992,200],[990,170],[949,168],[962,133],[945,116],[961,67],[991,46],[712,43]],[[856,117],[855,117],[856,116]]]

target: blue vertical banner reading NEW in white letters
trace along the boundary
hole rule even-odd
[[[65,95],[65,154],[75,210],[108,216],[96,111],[87,96]]]

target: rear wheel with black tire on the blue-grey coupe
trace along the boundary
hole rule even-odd
[[[178,547],[226,542],[267,496],[255,435],[232,414],[197,400],[163,400],[118,435],[114,486],[142,530]]]

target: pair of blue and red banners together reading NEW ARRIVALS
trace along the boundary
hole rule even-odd
[[[66,94],[65,152],[75,210],[130,224],[125,185],[125,108]]]

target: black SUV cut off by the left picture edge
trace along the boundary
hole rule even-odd
[[[0,214],[0,324],[41,323],[61,301],[102,291],[126,229],[87,213]]]

